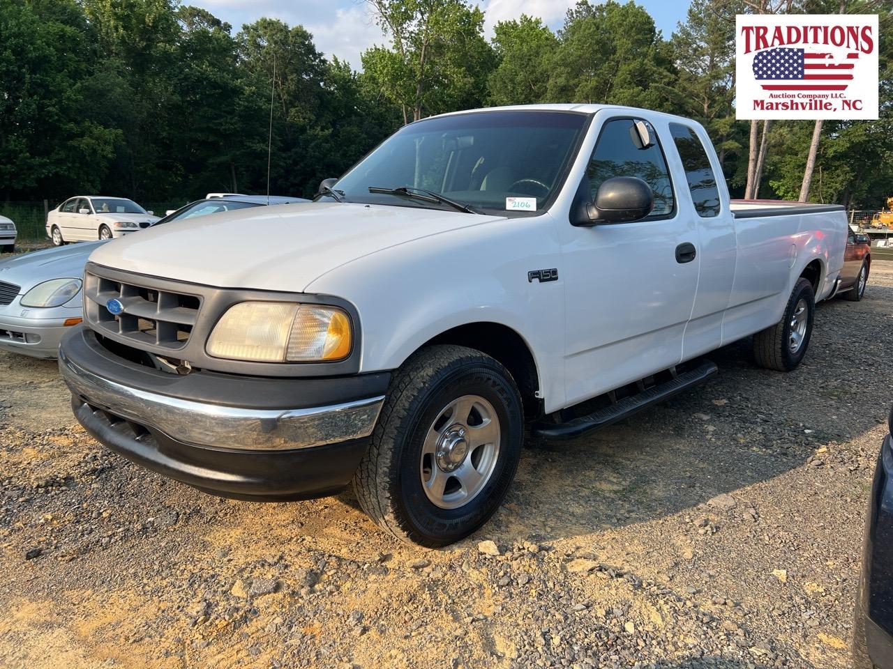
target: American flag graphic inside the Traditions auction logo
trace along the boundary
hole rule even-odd
[[[845,91],[853,78],[853,61],[859,54],[847,54],[847,62],[836,62],[832,54],[805,49],[766,49],[754,56],[754,76],[767,91]]]

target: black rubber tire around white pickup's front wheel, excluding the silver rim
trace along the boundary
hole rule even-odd
[[[494,409],[498,451],[480,492],[463,506],[440,508],[423,487],[422,449],[444,408],[465,395],[477,395]],[[396,538],[429,548],[446,546],[473,533],[499,508],[517,470],[522,440],[521,396],[508,371],[480,351],[431,346],[406,360],[391,381],[370,448],[354,476],[357,500]],[[466,457],[472,457],[471,449]]]

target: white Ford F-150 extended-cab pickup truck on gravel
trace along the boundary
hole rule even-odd
[[[59,365],[80,423],[145,467],[248,500],[353,483],[383,528],[442,546],[503,500],[525,421],[610,424],[750,335],[796,368],[846,238],[839,207],[731,204],[691,120],[453,113],[313,203],[97,249]]]

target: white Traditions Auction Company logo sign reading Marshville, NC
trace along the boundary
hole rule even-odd
[[[739,14],[735,117],[877,119],[877,14]]]

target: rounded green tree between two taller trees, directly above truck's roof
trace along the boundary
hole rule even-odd
[[[558,39],[540,19],[522,14],[516,21],[499,21],[494,29],[498,65],[490,73],[488,92],[494,104],[542,102],[549,82],[548,61]]]

